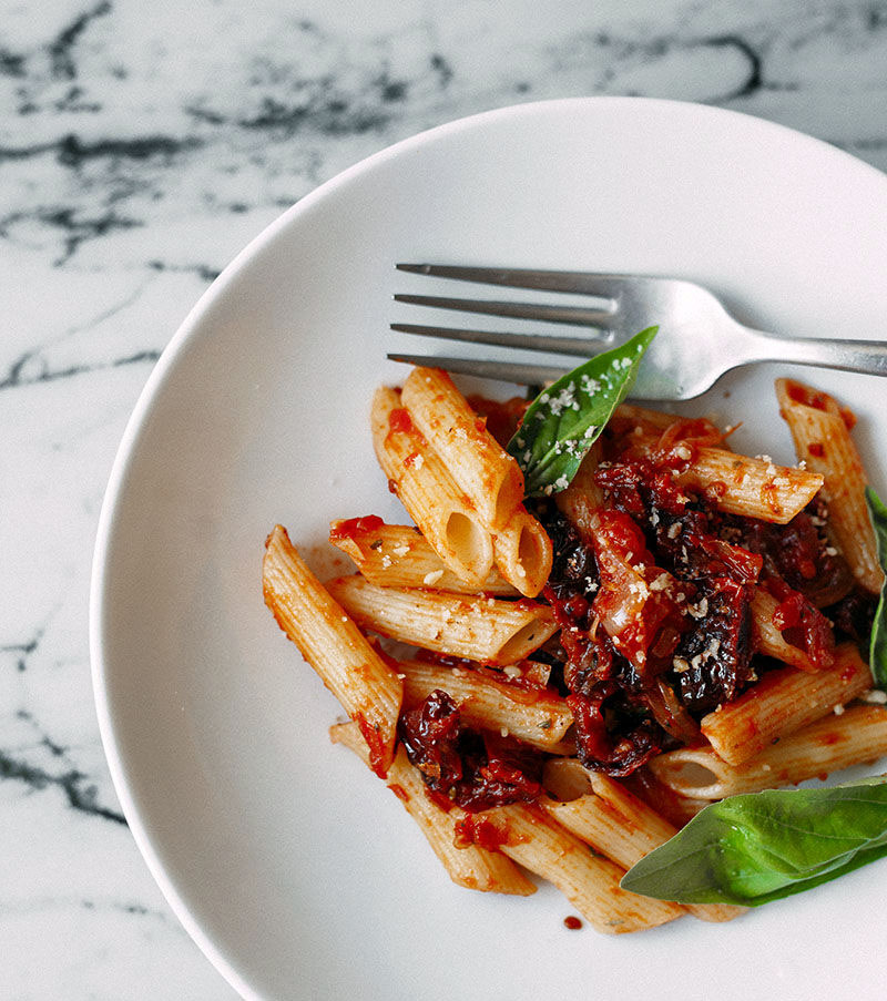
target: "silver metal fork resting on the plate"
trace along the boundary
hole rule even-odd
[[[449,371],[502,379],[528,386],[560,378],[582,358],[600,354],[645,327],[660,333],[648,350],[631,396],[639,400],[687,400],[710,389],[726,371],[754,361],[815,365],[845,371],[887,376],[887,344],[875,340],[787,338],[755,330],[735,320],[712,293],[693,282],[644,275],[590,272],[453,267],[438,264],[398,264],[401,272],[436,278],[456,278],[511,288],[579,293],[601,300],[594,306],[488,302],[425,295],[396,295],[399,303],[458,309],[491,316],[595,328],[578,337],[544,334],[462,330],[418,324],[391,324],[392,330],[472,344],[571,355],[564,367],[520,361],[390,354],[396,361],[427,365]]]

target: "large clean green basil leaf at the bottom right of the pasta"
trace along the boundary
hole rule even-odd
[[[879,776],[714,803],[629,869],[621,886],[679,903],[757,907],[884,856],[887,776]]]

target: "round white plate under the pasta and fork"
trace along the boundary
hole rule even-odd
[[[329,746],[339,711],[263,605],[263,541],[279,521],[323,569],[329,519],[396,515],[366,417],[402,377],[386,330],[409,307],[390,295],[428,288],[392,263],[422,259],[682,275],[763,328],[877,337],[887,178],[711,108],[529,104],[358,164],[236,258],[126,429],[93,580],[108,757],[176,913],[251,998],[846,997],[848,971],[876,997],[885,862],[730,926],[570,931],[551,888],[451,885],[397,799]],[[775,375],[734,374],[697,409],[792,461]],[[883,488],[887,384],[813,378],[858,413]]]

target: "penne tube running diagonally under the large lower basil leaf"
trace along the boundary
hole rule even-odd
[[[584,774],[565,777],[565,769]],[[664,845],[677,828],[660,817],[642,799],[606,775],[587,772],[575,758],[550,762],[546,787],[555,799],[540,800],[542,809],[562,827],[609,859],[630,869],[645,855]],[[562,794],[563,798],[559,795]],[[684,905],[702,921],[730,921],[745,908],[724,905]]]

